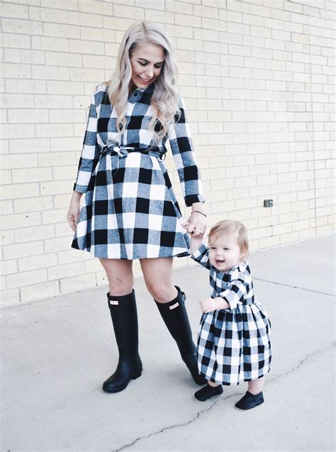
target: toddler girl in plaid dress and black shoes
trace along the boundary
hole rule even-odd
[[[184,224],[187,226],[187,223]],[[208,236],[191,234],[191,258],[210,270],[211,297],[201,300],[198,330],[198,370],[208,384],[195,393],[200,402],[220,395],[222,385],[248,382],[235,404],[247,410],[264,402],[264,375],[271,364],[271,323],[254,300],[247,230],[239,221],[220,221]]]

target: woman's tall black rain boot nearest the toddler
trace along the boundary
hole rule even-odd
[[[197,366],[197,351],[194,344],[191,328],[189,324],[188,314],[186,313],[186,307],[184,301],[186,296],[184,292],[177,286],[177,297],[168,303],[158,303],[159,313],[164,320],[164,323],[175,339],[181,358],[186,363],[186,367],[190,370],[191,376],[198,385],[205,385],[206,379],[199,375]]]

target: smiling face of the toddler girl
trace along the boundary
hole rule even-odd
[[[236,235],[215,236],[209,241],[209,260],[220,272],[227,272],[242,263],[242,252]]]

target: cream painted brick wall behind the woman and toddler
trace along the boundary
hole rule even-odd
[[[243,221],[254,250],[332,232],[333,1],[9,0],[1,17],[4,304],[106,284],[65,216],[91,92],[137,19],[174,39],[209,224]]]

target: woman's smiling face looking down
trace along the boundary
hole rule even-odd
[[[164,50],[159,45],[145,44],[135,48],[130,57],[132,66],[131,87],[146,88],[161,74]]]

